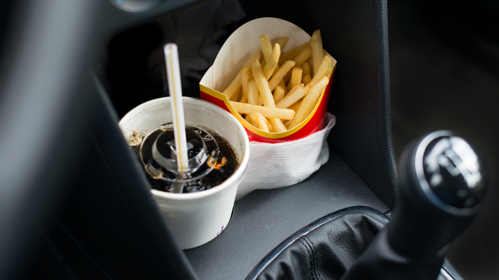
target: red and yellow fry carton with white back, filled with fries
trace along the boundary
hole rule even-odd
[[[316,32],[312,35],[312,40],[317,37]],[[267,40],[269,41],[268,46],[270,49],[265,49],[265,37],[262,39],[260,37],[261,35],[268,36]],[[320,50],[322,50],[320,31],[318,32],[318,38],[320,41]],[[274,44],[276,40],[280,43],[278,46]],[[322,130],[324,128],[324,115],[329,100],[336,60],[326,51],[318,51],[317,44],[315,42],[312,44],[312,40],[311,36],[303,29],[283,19],[263,17],[249,21],[234,31],[227,39],[220,49],[212,67],[208,69],[201,79],[201,99],[212,102],[231,112],[245,127],[250,141],[265,143],[287,142],[305,138]],[[282,49],[280,49],[281,45],[283,45]],[[314,46],[315,50],[313,50]],[[261,64],[258,63],[259,66],[251,63],[254,61],[254,55],[257,51],[259,51],[259,61],[261,61]],[[314,54],[312,56],[311,53],[314,51],[315,54],[320,53],[320,55]],[[276,63],[275,68],[265,67],[267,64],[268,66],[272,66],[271,61],[275,57],[280,58],[280,61]],[[320,57],[319,60],[317,60],[316,57]],[[324,61],[327,60],[328,64],[326,62],[322,63],[322,59]],[[273,75],[276,75],[277,70],[280,67],[285,68],[283,65],[286,61],[292,61],[288,63],[292,64],[292,66],[290,66],[289,70],[286,72],[286,76],[280,79],[279,85],[275,86],[277,83],[273,83],[274,86],[272,86],[271,81]],[[327,64],[328,66],[323,66],[322,64]],[[250,104],[250,95],[245,96],[246,93],[241,92],[241,88],[244,86],[239,85],[239,92],[236,92],[235,90],[233,94],[227,94],[228,87],[230,85],[233,86],[232,83],[236,81],[235,78],[238,77],[238,74],[241,76],[241,73],[245,69],[243,66],[245,65],[248,66],[246,69],[250,69],[246,71],[251,72],[252,76],[250,79],[253,79],[254,77],[255,84],[260,92],[258,99],[260,104],[254,104],[253,106],[275,108],[277,105],[277,108],[280,108],[281,110],[279,112],[290,113],[287,114],[286,117],[279,118],[272,118],[270,115],[265,116],[267,117],[265,122],[268,126],[270,128],[274,127],[275,129],[266,131],[266,128],[262,129],[261,126],[258,127],[258,125],[255,125],[255,123],[247,117],[250,113],[247,112],[247,114],[245,114],[241,111],[242,109],[240,109],[240,106],[242,106],[242,103]],[[320,69],[319,66],[321,67]],[[260,70],[258,68],[260,67],[262,72],[259,72]],[[268,70],[267,68],[273,70]],[[291,74],[295,68],[299,68],[297,69],[299,70],[297,71],[298,74],[296,74],[298,82],[296,82],[295,76],[293,76],[294,74]],[[255,73],[262,73],[263,75],[258,76],[258,74]],[[310,73],[310,76],[306,78],[305,74],[308,73]],[[317,79],[315,79],[315,74],[317,74]],[[262,82],[264,81],[262,78],[264,76],[266,76],[267,86]],[[319,76],[322,77],[321,80],[319,80]],[[291,82],[291,80],[293,80],[293,82]],[[239,84],[241,84],[241,81],[239,81]],[[270,87],[267,88],[269,85]],[[284,97],[293,91],[296,91],[296,94],[298,94],[299,87],[306,88],[307,94],[315,92],[315,98],[310,98],[312,100],[317,100],[313,103],[315,104],[315,107],[313,107],[313,104],[309,104],[307,106],[308,110],[302,108],[302,112],[299,112],[300,109],[298,108],[301,106],[300,103],[306,103],[306,96],[301,97],[296,100],[294,104],[289,106],[283,105],[283,103],[286,102],[279,103],[279,101],[284,98],[282,96],[279,98],[275,97],[277,87],[280,87],[280,90],[284,90]],[[236,89],[237,87],[233,88]],[[226,94],[224,94],[224,91]],[[273,96],[269,97],[266,93],[270,93],[271,91],[274,93]],[[299,94],[297,96],[299,96]],[[290,96],[286,101],[289,99],[293,100]],[[252,100],[255,99],[253,98]],[[247,105],[245,104],[244,106]],[[255,109],[255,107],[252,109]],[[238,113],[238,110],[240,113]],[[293,112],[291,112],[291,110],[293,110]],[[308,114],[310,110],[311,113]],[[301,117],[298,118],[298,115]],[[296,118],[296,120],[292,120],[292,118]],[[301,121],[302,119],[303,121]],[[270,122],[268,122],[269,120]],[[253,122],[253,124],[250,124],[250,122]],[[263,121],[261,121],[261,123],[263,123]]]

